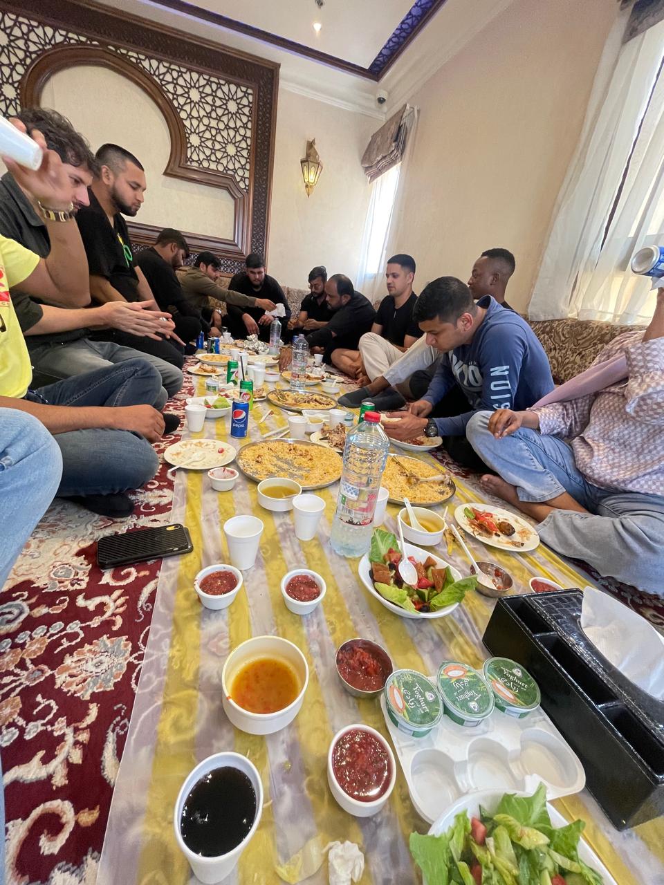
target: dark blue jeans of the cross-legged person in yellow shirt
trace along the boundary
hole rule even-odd
[[[157,369],[143,359],[128,359],[57,381],[36,393],[51,405],[112,407],[150,405],[160,389]],[[157,473],[159,462],[151,444],[128,430],[73,430],[56,434],[55,441],[63,463],[59,497],[139,489]]]

